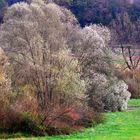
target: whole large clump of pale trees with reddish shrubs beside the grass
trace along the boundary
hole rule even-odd
[[[0,28],[0,47],[9,60],[7,73],[0,68],[10,79],[6,93],[0,89],[2,97],[8,95],[1,98],[8,104],[0,112],[6,114],[0,129],[68,134],[99,123],[99,112],[127,109],[130,93],[114,75],[109,42],[108,28],[81,28],[69,10],[54,3],[9,7]]]

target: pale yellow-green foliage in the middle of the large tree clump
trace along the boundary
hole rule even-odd
[[[68,49],[59,51],[56,65],[52,67],[56,76],[55,90],[81,98],[85,93],[85,82],[81,80],[80,66],[77,58]]]

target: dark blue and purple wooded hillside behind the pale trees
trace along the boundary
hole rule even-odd
[[[31,2],[31,0],[1,0],[0,9],[6,6],[6,3],[12,5],[22,1]],[[69,8],[82,26],[94,23],[106,25],[115,30],[119,38],[118,44],[126,44],[126,42],[134,44],[140,41],[140,8],[137,1],[134,1],[133,4],[129,0],[54,0],[54,2]]]

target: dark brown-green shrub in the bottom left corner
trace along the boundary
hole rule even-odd
[[[28,113],[19,113],[8,109],[5,117],[0,121],[0,131],[6,133],[22,132],[28,135],[44,135],[45,129],[40,126],[37,119]]]

